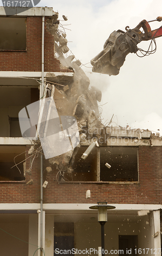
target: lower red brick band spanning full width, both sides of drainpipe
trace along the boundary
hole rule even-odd
[[[60,183],[56,181],[58,170],[44,172],[48,186],[44,189],[44,203],[97,203],[110,204],[162,204],[162,147],[139,147],[139,183]],[[28,165],[29,167],[29,160]],[[27,167],[27,168],[28,168]],[[47,175],[47,176],[46,176]],[[40,198],[40,158],[35,158],[32,185],[26,183],[0,183],[1,203],[39,203]],[[91,190],[91,198],[86,199],[86,190]]]

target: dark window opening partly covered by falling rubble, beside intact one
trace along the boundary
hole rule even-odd
[[[87,150],[86,146],[80,147],[72,165],[72,174],[66,174],[69,181],[97,181],[97,147],[84,160],[83,153]]]

